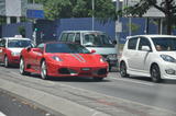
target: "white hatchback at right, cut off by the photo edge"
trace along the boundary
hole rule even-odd
[[[151,77],[153,82],[176,79],[176,36],[129,36],[120,59],[121,77]]]

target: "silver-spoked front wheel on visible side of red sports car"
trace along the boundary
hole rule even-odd
[[[46,61],[43,60],[41,63],[41,78],[43,80],[47,80],[48,76],[47,76],[47,66],[46,66]]]

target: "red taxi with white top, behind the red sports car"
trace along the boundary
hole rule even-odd
[[[33,46],[30,38],[0,38],[0,62],[3,62],[4,67],[9,67],[10,65],[19,65],[21,50],[29,46]]]

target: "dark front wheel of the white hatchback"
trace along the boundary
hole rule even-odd
[[[160,70],[160,67],[157,65],[153,65],[152,68],[151,68],[151,78],[152,78],[152,81],[155,82],[155,83],[158,83],[162,81],[161,79],[161,70]]]

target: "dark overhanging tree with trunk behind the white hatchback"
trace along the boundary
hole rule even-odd
[[[142,16],[152,7],[156,8],[165,14],[167,34],[172,34],[172,26],[176,24],[175,0],[162,0],[160,3],[157,0],[140,0],[140,2],[134,7],[124,9],[124,12],[134,16]]]

